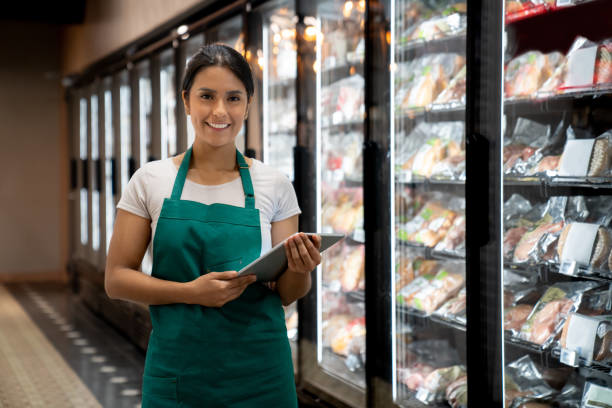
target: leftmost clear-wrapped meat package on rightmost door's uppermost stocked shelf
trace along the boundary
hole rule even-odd
[[[559,52],[543,54],[539,51],[528,51],[514,58],[506,67],[504,78],[506,98],[535,96],[563,61],[563,55]]]

